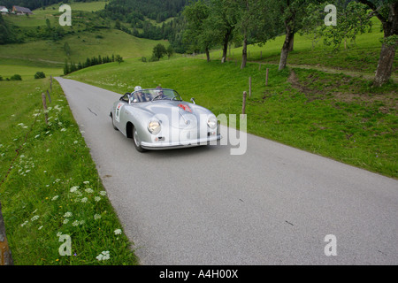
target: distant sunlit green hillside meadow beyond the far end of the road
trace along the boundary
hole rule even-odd
[[[58,28],[58,5],[34,11],[34,15],[13,16],[5,15],[4,20],[17,26],[19,33],[26,33],[25,43],[0,45],[0,75],[9,78],[15,73],[23,80],[33,79],[34,73],[41,71],[50,76],[63,74],[65,60],[78,64],[85,62],[87,57],[109,56],[119,54],[121,57],[150,57],[153,47],[165,41],[152,41],[126,34],[113,29],[114,23],[99,18],[88,11],[103,9],[105,2],[74,3],[73,25],[63,27],[65,37],[57,41],[50,39],[37,40],[29,34],[44,33],[47,28]],[[69,46],[65,50],[65,44]]]

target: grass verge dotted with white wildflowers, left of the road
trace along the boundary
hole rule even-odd
[[[49,85],[0,82],[0,201],[14,264],[138,264],[55,80],[45,123]],[[61,235],[71,256],[60,255]]]

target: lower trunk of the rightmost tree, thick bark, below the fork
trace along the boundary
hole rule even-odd
[[[383,42],[383,45],[381,46],[378,69],[373,81],[373,85],[375,87],[381,87],[383,84],[388,82],[388,80],[390,80],[391,73],[393,73],[395,47],[397,45],[398,42],[396,42],[395,45]]]

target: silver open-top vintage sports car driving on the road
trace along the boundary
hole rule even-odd
[[[221,139],[216,116],[206,108],[182,101],[168,88],[126,93],[111,109],[112,125],[134,140],[135,149],[174,149],[207,145]]]

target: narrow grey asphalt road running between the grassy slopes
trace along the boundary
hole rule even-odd
[[[250,134],[139,153],[121,94],[57,80],[142,264],[398,264],[397,180]]]

